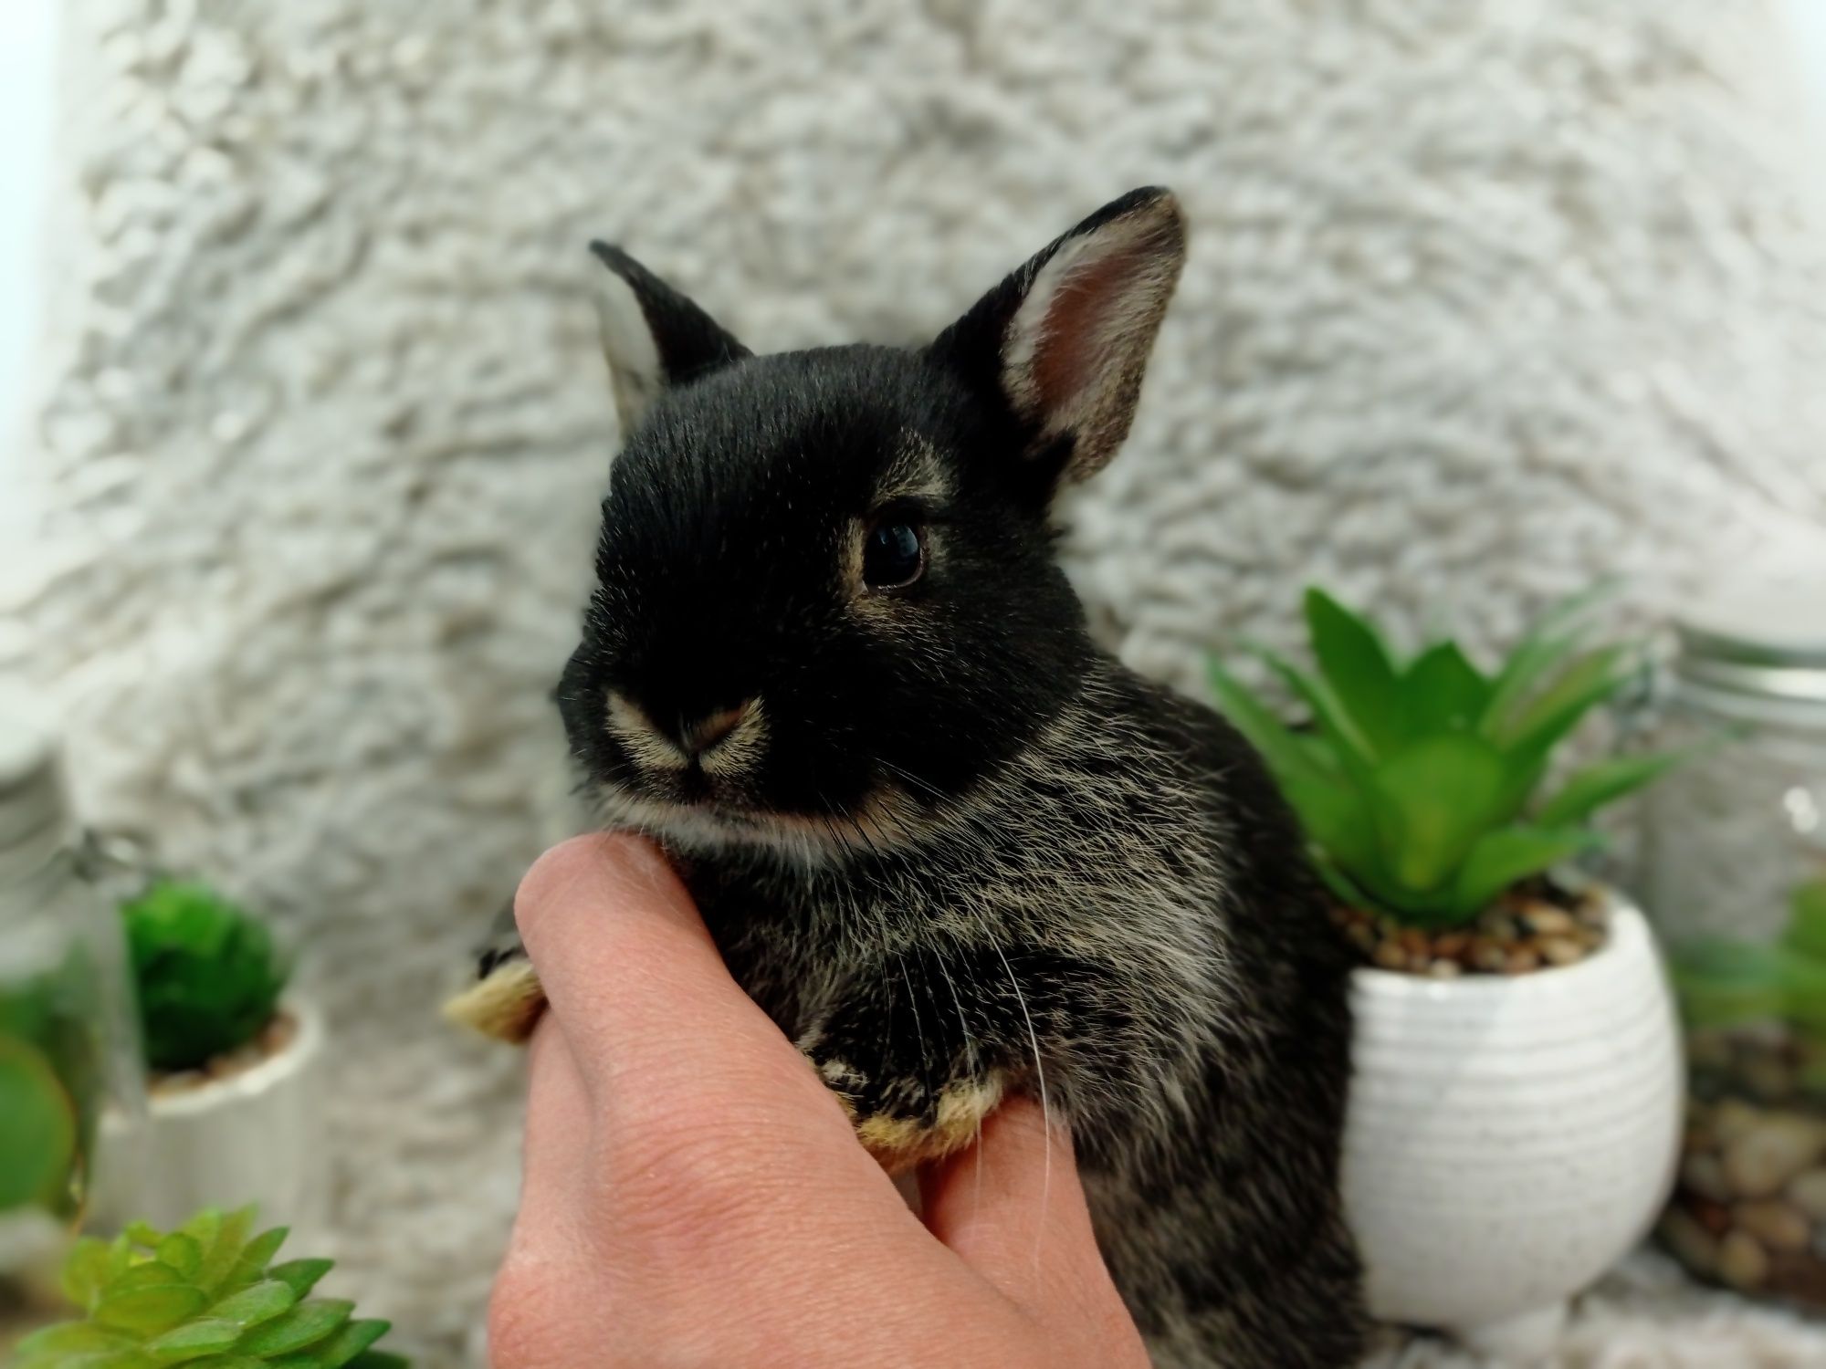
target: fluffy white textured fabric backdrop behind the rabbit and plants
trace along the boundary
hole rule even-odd
[[[1751,0],[68,22],[46,517],[0,666],[66,703],[89,816],[296,935],[340,1033],[347,1287],[427,1365],[515,1190],[513,1062],[433,1006],[562,821],[544,695],[615,447],[588,237],[760,349],[902,341],[1176,186],[1191,265],[1072,557],[1185,684],[1313,579],[1497,639],[1598,571],[1653,610],[1822,540],[1826,214]],[[1632,1307],[1594,1300],[1565,1364],[1808,1354]]]

